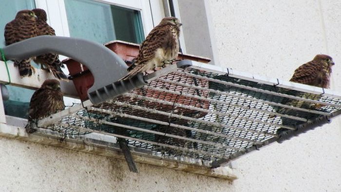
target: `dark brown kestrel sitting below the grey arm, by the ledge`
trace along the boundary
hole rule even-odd
[[[63,110],[64,107],[63,92],[60,90],[59,81],[56,79],[45,80],[31,97],[28,122],[33,122],[34,120],[57,113]],[[35,131],[30,127],[26,127],[26,129],[29,133]]]

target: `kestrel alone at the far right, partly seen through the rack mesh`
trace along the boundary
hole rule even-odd
[[[297,68],[291,77],[290,81],[295,83],[301,83],[309,86],[329,88],[330,86],[330,74],[332,72],[332,66],[335,65],[333,59],[325,54],[318,54],[314,57],[312,61],[301,65]],[[296,95],[302,98],[319,100],[321,98],[320,95],[310,94],[310,93],[301,93]],[[303,102],[298,100],[292,100],[284,102],[285,105],[291,105],[295,107],[303,107],[308,109],[318,109],[321,107],[319,104],[313,104],[310,102]],[[287,115],[296,115],[298,111],[293,109],[281,108],[279,113],[287,114]],[[300,112],[302,113],[302,112]],[[302,113],[302,115],[307,115]],[[284,125],[292,125],[295,124],[296,121],[290,120],[288,118],[282,118],[282,124]],[[280,128],[277,130],[277,133],[283,132],[284,128]]]

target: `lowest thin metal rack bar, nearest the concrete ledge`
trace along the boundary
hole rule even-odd
[[[169,145],[169,144],[163,144],[163,143],[158,143],[158,142],[149,141],[149,140],[141,140],[141,139],[132,138],[132,137],[123,136],[123,135],[118,135],[118,134],[114,134],[114,133],[107,133],[107,132],[96,131],[96,130],[93,130],[93,129],[88,129],[88,128],[84,128],[84,127],[70,125],[70,124],[67,124],[67,123],[59,123],[59,125],[61,125],[63,127],[74,127],[75,129],[79,129],[79,130],[82,130],[82,131],[88,131],[88,132],[93,132],[93,133],[110,135],[110,136],[114,136],[116,138],[122,138],[122,139],[126,139],[126,140],[136,140],[136,141],[143,142],[143,143],[149,143],[149,144],[152,144],[152,145],[159,145],[159,146],[162,146],[162,147],[168,147],[168,148],[171,148],[171,149],[180,150],[180,151],[184,151],[184,152],[191,152],[191,153],[201,154],[201,155],[205,155],[205,156],[208,156],[208,157],[224,158],[224,156],[213,154],[213,153],[208,153],[208,152],[201,151],[201,150],[189,149],[189,148],[184,148],[184,147],[175,147],[175,146]]]

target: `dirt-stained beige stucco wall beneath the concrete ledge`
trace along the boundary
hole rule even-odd
[[[225,191],[227,180],[0,137],[1,192]]]

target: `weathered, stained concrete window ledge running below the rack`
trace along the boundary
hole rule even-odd
[[[47,129],[39,129],[36,133],[29,135],[22,127],[0,123],[0,136],[36,142],[49,146],[62,147],[65,149],[71,149],[105,157],[124,159],[119,146],[115,143],[109,143],[107,141],[94,142],[94,139],[84,136],[78,138],[65,138],[62,140],[63,137],[61,134]],[[233,174],[233,170],[229,167],[210,169],[208,167],[186,164],[172,159],[151,157],[134,149],[132,150],[132,154],[134,160],[138,163],[145,163],[198,175],[222,178],[229,181],[233,181],[237,178],[237,176]]]

